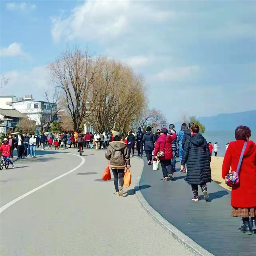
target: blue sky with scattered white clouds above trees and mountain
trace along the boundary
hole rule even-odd
[[[255,109],[255,1],[1,1],[1,95],[42,99],[78,45],[144,77],[168,122]],[[134,104],[136,104],[134,102]]]

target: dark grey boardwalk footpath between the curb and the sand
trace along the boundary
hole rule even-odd
[[[231,217],[228,190],[216,182],[208,183],[210,199],[206,202],[198,186],[200,200],[192,201],[191,186],[183,179],[186,174],[176,169],[175,181],[164,182],[161,168],[153,171],[152,165],[147,165],[146,158],[143,159],[141,192],[167,221],[216,256],[256,255],[256,234],[246,235],[238,230],[242,221]],[[176,163],[176,167],[179,166]]]

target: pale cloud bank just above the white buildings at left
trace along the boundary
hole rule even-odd
[[[9,78],[8,85],[1,89],[1,94],[9,94],[10,91],[16,97],[25,94],[33,94],[35,99],[42,99],[45,90],[53,88],[49,81],[49,70],[47,66],[38,66],[31,70],[10,71],[5,73]]]

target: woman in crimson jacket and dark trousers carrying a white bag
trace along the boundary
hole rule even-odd
[[[164,176],[164,180],[168,180],[168,177],[172,180],[173,178],[173,168],[172,168],[172,141],[176,139],[176,133],[173,132],[173,135],[167,134],[168,130],[163,127],[161,130],[161,135],[157,139],[154,156],[156,157],[157,153],[160,151],[164,152],[164,156],[160,157],[160,163],[162,167],[162,172]]]

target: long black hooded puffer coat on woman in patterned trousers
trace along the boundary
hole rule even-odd
[[[211,156],[208,144],[200,133],[190,136],[185,143],[181,164],[186,162],[188,184],[211,182]]]

